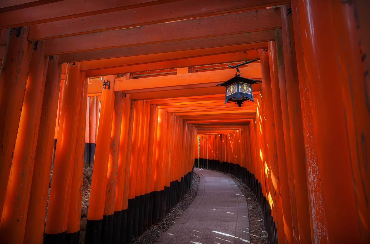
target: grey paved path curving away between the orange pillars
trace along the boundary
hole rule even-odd
[[[246,244],[248,206],[229,177],[207,169],[199,175],[198,194],[191,205],[155,244]]]

